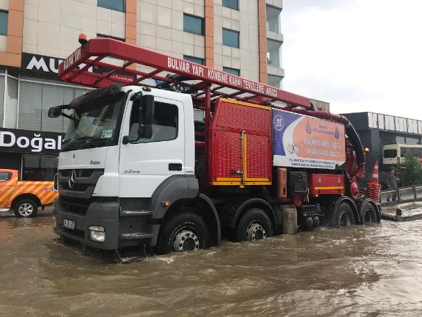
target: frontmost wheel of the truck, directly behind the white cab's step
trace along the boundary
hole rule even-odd
[[[164,222],[156,252],[185,252],[205,249],[210,245],[210,231],[196,213],[180,213]]]

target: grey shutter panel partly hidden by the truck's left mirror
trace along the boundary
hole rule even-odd
[[[49,118],[49,108],[63,104],[63,86],[42,85],[42,131],[59,132],[63,131],[63,117]]]

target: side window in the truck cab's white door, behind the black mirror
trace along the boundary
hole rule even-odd
[[[140,109],[137,102],[133,102],[130,113],[130,140],[137,138],[140,127]],[[141,123],[142,123],[141,118]],[[133,143],[151,143],[175,140],[178,135],[178,108],[174,104],[155,101],[153,112],[153,135],[151,138],[140,138]]]

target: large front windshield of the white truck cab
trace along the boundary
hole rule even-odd
[[[62,152],[117,145],[125,94],[104,97],[76,108],[63,140]]]

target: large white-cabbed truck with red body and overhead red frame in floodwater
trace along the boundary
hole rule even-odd
[[[56,234],[166,254],[219,245],[222,233],[250,241],[380,221],[376,188],[359,190],[365,153],[346,117],[119,40],[79,42],[59,76],[96,90],[49,110],[70,122]]]

